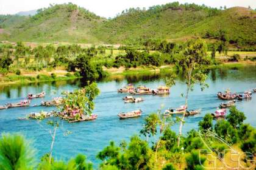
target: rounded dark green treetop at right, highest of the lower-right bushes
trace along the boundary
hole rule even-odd
[[[229,110],[230,114],[227,115],[227,121],[229,121],[229,123],[235,127],[235,129],[237,127],[239,127],[244,120],[246,120],[246,116],[244,115],[243,112],[241,112],[240,110],[236,109],[235,106],[230,107]]]

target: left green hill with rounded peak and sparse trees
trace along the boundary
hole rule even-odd
[[[19,24],[6,25],[0,39],[35,42],[100,42],[91,30],[104,19],[74,4],[40,9]],[[6,22],[6,21],[5,21]],[[3,22],[0,25],[4,24]],[[9,32],[7,34],[6,32]]]

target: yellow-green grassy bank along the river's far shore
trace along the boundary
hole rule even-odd
[[[246,66],[256,66],[255,62],[233,62],[233,63],[221,63],[218,65],[211,65],[208,69],[216,69],[216,68],[239,68]],[[142,66],[137,68],[126,69],[124,67],[120,68],[104,68],[104,71],[107,72],[106,80],[115,79],[115,78],[124,78],[128,75],[147,75],[152,73],[171,73],[175,70],[174,65],[164,65],[160,67],[154,66]],[[58,70],[55,70],[58,72]],[[0,85],[7,86],[10,84],[28,84],[28,83],[41,83],[41,82],[51,82],[51,81],[66,81],[66,80],[75,80],[82,78],[81,76],[74,75],[74,73],[70,72],[62,72],[56,73],[55,76],[51,75],[52,72],[43,72],[38,74],[33,73],[32,75],[24,74],[24,75],[15,75],[10,74],[4,77],[0,77]],[[54,73],[54,71],[53,71]],[[63,74],[65,73],[65,74]]]

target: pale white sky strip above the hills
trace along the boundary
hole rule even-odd
[[[235,7],[242,6],[256,9],[256,0],[174,0],[180,3],[205,4],[211,7]],[[14,14],[21,11],[35,10],[48,7],[49,4],[63,4],[73,2],[80,7],[106,18],[113,17],[130,7],[150,7],[152,5],[174,2],[172,0],[0,0],[0,14]]]

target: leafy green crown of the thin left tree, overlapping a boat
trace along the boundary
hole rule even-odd
[[[72,93],[66,93],[64,95],[62,111],[67,108],[79,108],[82,114],[91,115],[94,109],[93,100],[99,95],[99,89],[96,83],[91,83],[82,89],[77,89]]]

